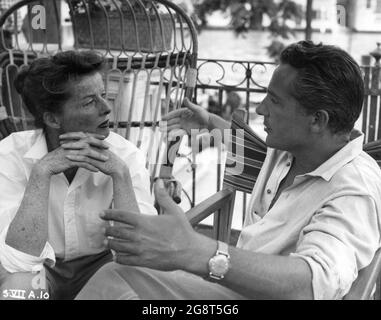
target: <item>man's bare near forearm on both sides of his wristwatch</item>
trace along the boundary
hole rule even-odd
[[[216,241],[204,238],[194,248],[188,272],[206,276]],[[308,264],[292,257],[265,255],[229,248],[231,267],[221,285],[250,299],[313,299],[312,274]]]

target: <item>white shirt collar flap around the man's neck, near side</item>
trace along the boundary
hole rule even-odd
[[[316,170],[305,176],[321,177],[326,181],[330,181],[337,171],[361,154],[363,143],[364,134],[357,130],[353,131],[351,141],[344,148],[339,150]]]

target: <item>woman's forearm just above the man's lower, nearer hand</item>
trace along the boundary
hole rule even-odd
[[[113,176],[112,180],[114,187],[114,208],[140,213],[128,169],[121,174]]]

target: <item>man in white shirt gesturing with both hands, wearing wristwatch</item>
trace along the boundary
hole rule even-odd
[[[343,298],[380,248],[381,171],[353,130],[363,97],[343,50],[287,47],[257,109],[269,149],[237,247],[196,233],[158,181],[164,215],[102,214],[122,223],[105,232],[119,264],[102,267],[78,299]],[[186,107],[166,117],[172,134],[230,129]]]

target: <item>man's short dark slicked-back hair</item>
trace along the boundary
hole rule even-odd
[[[293,96],[307,113],[325,110],[332,133],[348,133],[359,118],[364,82],[359,65],[335,46],[300,41],[284,49],[280,61],[298,71]]]

